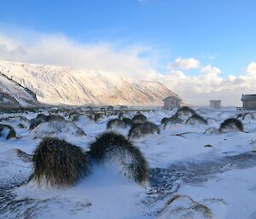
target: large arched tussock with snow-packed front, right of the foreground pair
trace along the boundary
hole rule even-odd
[[[144,183],[148,179],[148,164],[143,154],[123,135],[113,132],[100,135],[90,145],[89,154],[97,162],[115,164],[124,176],[135,182]]]

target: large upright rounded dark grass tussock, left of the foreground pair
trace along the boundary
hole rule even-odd
[[[45,137],[33,156],[31,180],[51,187],[75,184],[88,171],[89,160],[80,147],[58,138]]]

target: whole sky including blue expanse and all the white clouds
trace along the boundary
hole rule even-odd
[[[241,105],[242,93],[256,93],[253,0],[9,0],[1,8],[0,60],[156,80],[195,105]]]

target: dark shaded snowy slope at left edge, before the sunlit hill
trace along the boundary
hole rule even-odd
[[[0,71],[0,107],[26,107],[37,104],[36,95]]]

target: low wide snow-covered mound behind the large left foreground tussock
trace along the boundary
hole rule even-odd
[[[35,129],[31,131],[32,138],[44,138],[45,136],[84,136],[85,133],[76,124],[72,122],[49,122],[39,124]]]

